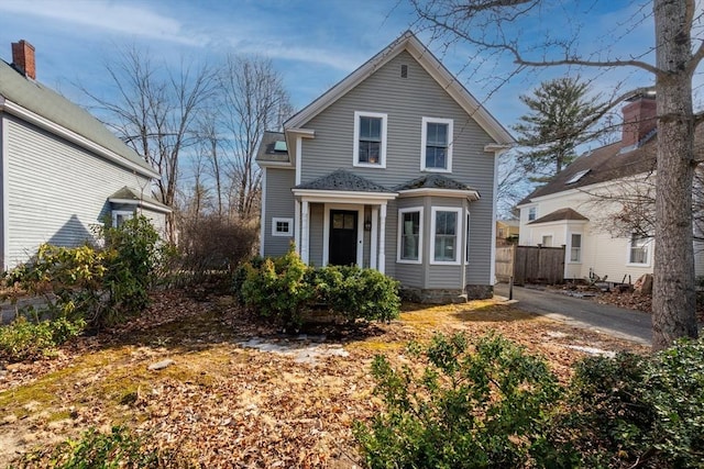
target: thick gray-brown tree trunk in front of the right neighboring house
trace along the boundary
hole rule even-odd
[[[686,5],[656,0],[658,172],[652,292],[652,344],[696,337],[692,178],[694,118]]]

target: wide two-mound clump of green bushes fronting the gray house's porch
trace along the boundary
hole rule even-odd
[[[364,321],[389,321],[400,312],[398,282],[373,269],[308,267],[292,249],[276,259],[256,258],[233,276],[235,297],[265,317],[300,324],[311,309]]]

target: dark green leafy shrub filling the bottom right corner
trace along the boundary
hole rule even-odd
[[[560,426],[596,466],[704,467],[704,344],[581,362]]]

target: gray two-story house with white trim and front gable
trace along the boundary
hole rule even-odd
[[[497,157],[514,141],[407,32],[268,132],[261,254],[371,267],[411,298],[493,293]]]

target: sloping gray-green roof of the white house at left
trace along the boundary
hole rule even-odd
[[[67,130],[114,155],[116,163],[150,177],[158,176],[136,152],[112,134],[88,111],[38,81],[24,77],[4,60],[0,60],[0,111],[18,115],[23,120],[32,120],[33,124],[52,133],[56,133],[56,127]],[[85,142],[78,138],[74,143]]]

